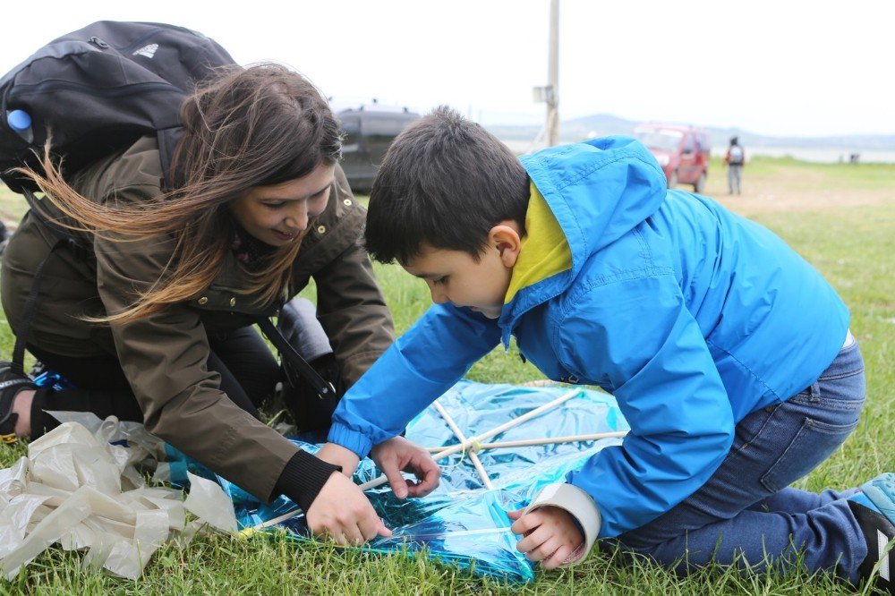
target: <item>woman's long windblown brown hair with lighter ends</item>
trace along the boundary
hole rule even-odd
[[[137,302],[93,319],[127,323],[200,294],[224,266],[234,223],[228,204],[256,186],[285,183],[341,157],[341,132],[320,91],[278,64],[219,72],[182,109],[183,140],[173,160],[177,188],[151,200],[118,205],[82,197],[45,151],[46,176],[25,171],[73,222],[59,222],[116,242],[168,234],[175,249],[166,269]],[[310,225],[309,225],[310,229]],[[242,294],[266,305],[289,283],[301,241],[272,251],[249,272]]]

